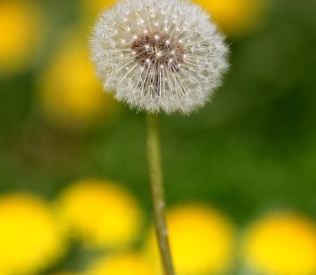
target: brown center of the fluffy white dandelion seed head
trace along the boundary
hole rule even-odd
[[[131,52],[135,61],[144,67],[151,67],[156,72],[160,69],[179,72],[185,50],[179,41],[168,34],[146,32],[131,43]]]

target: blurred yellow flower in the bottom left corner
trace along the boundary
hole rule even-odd
[[[0,274],[30,274],[54,262],[63,245],[52,210],[41,199],[0,197]]]

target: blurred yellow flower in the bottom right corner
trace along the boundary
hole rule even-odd
[[[293,213],[269,215],[247,230],[242,252],[260,274],[316,274],[315,224]]]

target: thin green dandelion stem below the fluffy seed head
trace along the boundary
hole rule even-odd
[[[147,114],[147,148],[150,173],[150,190],[153,200],[155,230],[159,244],[161,261],[166,275],[174,275],[168,231],[166,225],[165,199],[163,194],[161,156],[159,144],[159,121],[157,115]]]

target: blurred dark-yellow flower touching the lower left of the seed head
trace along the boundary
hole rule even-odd
[[[117,103],[95,78],[86,43],[74,35],[53,54],[38,82],[38,104],[57,126],[87,126],[100,117],[110,122],[117,115]]]

